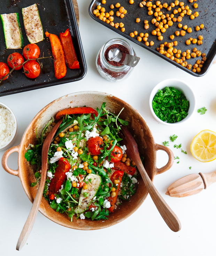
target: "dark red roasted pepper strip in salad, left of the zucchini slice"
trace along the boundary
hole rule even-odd
[[[55,198],[54,194],[58,194],[61,189],[66,176],[66,172],[70,170],[70,163],[64,157],[61,157],[58,166],[55,169],[54,177],[49,186],[49,199],[53,200]]]

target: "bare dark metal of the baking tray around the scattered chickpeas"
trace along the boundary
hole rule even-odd
[[[89,13],[90,16],[96,20],[97,22],[101,23],[102,25],[108,27],[109,29],[112,29],[114,31],[116,31],[118,34],[126,37],[128,40],[133,41],[134,43],[139,44],[141,47],[153,52],[154,54],[156,54],[157,56],[165,59],[166,61],[170,62],[171,64],[179,67],[180,69],[186,71],[187,73],[192,74],[193,76],[196,77],[201,77],[203,75],[205,75],[207,73],[207,71],[209,70],[211,64],[214,62],[214,58],[216,55],[216,29],[215,29],[215,25],[216,25],[216,1],[215,0],[209,0],[209,1],[204,1],[204,0],[198,0],[195,3],[198,3],[198,8],[194,8],[193,7],[193,3],[190,3],[188,0],[182,0],[185,5],[190,6],[190,9],[192,10],[192,14],[196,11],[199,12],[199,16],[196,17],[194,20],[190,19],[190,16],[185,15],[183,17],[182,20],[182,24],[187,25],[188,27],[192,28],[192,33],[187,33],[186,31],[186,35],[185,36],[175,36],[174,40],[171,40],[169,38],[170,35],[175,35],[175,31],[176,30],[182,30],[182,28],[178,28],[178,23],[179,22],[173,22],[173,25],[171,27],[169,27],[167,29],[167,31],[165,33],[161,33],[163,35],[163,40],[159,41],[157,39],[157,36],[153,36],[152,35],[152,30],[154,30],[156,27],[155,25],[153,25],[151,23],[151,20],[154,17],[154,14],[149,16],[148,15],[148,8],[146,6],[144,7],[139,7],[139,3],[142,0],[134,0],[134,3],[131,5],[129,3],[129,0],[121,0],[121,1],[114,1],[114,0],[107,0],[106,4],[103,5],[101,4],[101,1],[98,0],[93,0],[89,6]],[[109,24],[107,24],[104,21],[101,21],[100,19],[98,19],[97,17],[95,17],[95,15],[93,14],[93,10],[96,9],[97,5],[101,5],[102,7],[105,7],[106,12],[109,12],[111,10],[110,5],[113,4],[115,6],[115,4],[119,2],[121,4],[121,6],[123,6],[126,10],[127,10],[127,14],[125,15],[125,17],[123,19],[121,19],[120,17],[117,17],[115,15],[116,11],[118,10],[118,8],[114,8],[114,23],[118,22],[123,22],[124,23],[124,27],[125,27],[125,32],[123,33],[121,31],[121,28],[116,29],[115,27],[110,26]],[[146,1],[147,2],[147,1]],[[151,1],[152,4],[155,4],[155,1]],[[163,4],[164,2],[168,3],[168,6],[170,5],[171,2],[173,1],[161,1],[161,3]],[[180,2],[180,0],[179,0]],[[167,9],[163,8],[162,12],[165,11],[165,14],[169,13],[173,13],[173,9],[177,9],[179,6],[172,8],[171,11],[167,11]],[[154,12],[154,11],[153,11]],[[178,17],[179,15],[176,14],[175,17]],[[136,18],[140,18],[140,22],[136,23]],[[149,29],[144,29],[144,20],[148,20],[148,24],[149,24]],[[204,29],[201,29],[199,31],[195,30],[195,27],[200,24],[204,24]],[[139,33],[148,33],[149,34],[149,40],[150,41],[154,41],[154,45],[152,47],[150,46],[146,46],[143,42],[139,42],[137,41],[137,36],[135,37],[130,37],[130,33],[133,32],[134,30],[138,31],[138,35]],[[198,45],[198,44],[190,44],[190,45],[186,45],[185,41],[189,38],[189,37],[193,37],[193,38],[198,38],[199,35],[203,36],[203,44],[202,45]],[[207,61],[203,64],[203,67],[201,69],[200,73],[194,73],[191,70],[188,70],[186,67],[183,67],[180,64],[177,64],[174,61],[171,61],[171,59],[165,57],[164,55],[161,55],[156,48],[160,47],[160,44],[162,44],[163,42],[172,42],[172,41],[178,41],[178,45],[177,47],[173,47],[173,48],[177,48],[180,49],[182,52],[186,51],[187,49],[190,49],[191,52],[193,50],[194,47],[198,48],[198,50],[200,50],[202,53],[205,52],[206,53],[206,57],[207,57]],[[182,57],[182,55],[181,55]],[[198,59],[201,59],[200,57],[196,57],[196,58],[191,58],[189,60],[186,59],[186,61],[188,62],[188,64],[192,64],[192,66],[196,63],[196,61]]]

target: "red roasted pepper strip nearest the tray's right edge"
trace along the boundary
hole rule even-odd
[[[60,40],[64,49],[66,63],[70,69],[79,69],[79,62],[77,54],[74,49],[74,44],[70,35],[69,28],[64,32],[60,33]]]

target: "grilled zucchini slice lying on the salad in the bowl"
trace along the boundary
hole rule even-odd
[[[90,206],[93,198],[95,197],[100,187],[101,177],[99,175],[90,173],[89,175],[86,176],[84,182],[88,182],[88,188],[82,189],[80,193],[79,204],[76,210],[77,216],[86,211]]]

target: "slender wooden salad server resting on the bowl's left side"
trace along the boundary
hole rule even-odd
[[[34,226],[34,222],[35,222],[37,214],[38,214],[41,198],[42,198],[43,191],[44,191],[44,185],[45,185],[45,181],[46,181],[46,173],[47,173],[47,165],[48,165],[47,156],[48,156],[49,146],[50,146],[51,141],[53,140],[53,137],[54,137],[57,129],[61,125],[62,120],[63,119],[60,119],[59,122],[56,123],[56,125],[49,132],[48,136],[46,137],[46,140],[44,141],[43,148],[42,148],[41,178],[40,178],[40,183],[39,183],[39,187],[38,187],[38,192],[36,194],[36,197],[34,198],[34,202],[31,207],[31,211],[29,213],[29,216],[25,222],[23,230],[18,239],[18,242],[16,245],[16,249],[18,251],[21,250],[22,247],[24,246],[24,244],[25,244],[26,240],[28,239],[28,237],[31,233],[31,230]]]

